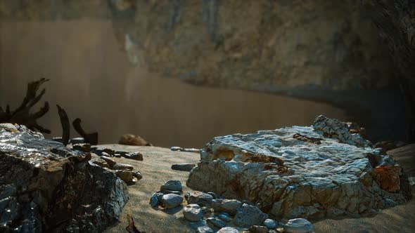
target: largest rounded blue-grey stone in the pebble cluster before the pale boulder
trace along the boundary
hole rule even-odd
[[[236,210],[235,225],[238,227],[250,227],[252,225],[262,225],[268,218],[266,213],[262,213],[257,206],[243,204]]]

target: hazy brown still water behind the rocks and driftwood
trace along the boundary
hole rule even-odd
[[[265,93],[201,88],[133,67],[110,20],[0,22],[0,105],[18,107],[28,81],[51,79],[40,123],[61,133],[55,105],[79,117],[100,143],[141,135],[154,145],[200,147],[215,135],[311,125],[315,116],[345,120],[342,109]],[[72,136],[75,133],[72,130]]]

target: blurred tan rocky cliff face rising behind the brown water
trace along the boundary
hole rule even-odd
[[[111,2],[132,63],[192,84],[289,92],[381,88],[394,79],[359,1]]]

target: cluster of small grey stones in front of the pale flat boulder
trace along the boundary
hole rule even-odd
[[[195,232],[312,232],[305,219],[293,219],[284,224],[269,219],[255,204],[236,199],[223,199],[214,192],[186,192],[184,198],[179,180],[169,180],[160,192],[150,198],[153,208],[183,206],[183,216]]]

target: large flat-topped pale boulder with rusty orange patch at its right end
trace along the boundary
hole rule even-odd
[[[309,127],[221,136],[201,149],[187,186],[246,199],[274,218],[355,216],[404,203],[411,193],[402,168],[368,145],[324,116]]]

